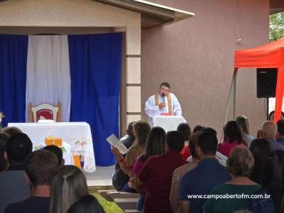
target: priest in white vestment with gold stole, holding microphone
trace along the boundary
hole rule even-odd
[[[149,124],[153,126],[153,117],[160,115],[182,116],[182,108],[175,94],[170,93],[170,84],[163,82],[160,84],[158,94],[148,98],[145,112],[149,116]]]

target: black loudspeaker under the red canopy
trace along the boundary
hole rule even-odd
[[[278,68],[257,68],[257,97],[275,97]]]

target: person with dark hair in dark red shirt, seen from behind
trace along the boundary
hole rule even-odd
[[[146,199],[143,204],[143,211],[172,212],[170,207],[170,187],[172,184],[173,171],[187,163],[182,160],[180,151],[184,146],[183,135],[179,131],[168,131],[168,150],[163,155],[156,155],[148,158],[138,173],[137,185],[148,184]]]

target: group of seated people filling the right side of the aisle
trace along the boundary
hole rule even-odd
[[[284,120],[263,122],[253,138],[248,119],[238,116],[220,143],[217,131],[200,125],[168,133],[145,121],[132,126],[126,155],[111,148],[112,178],[116,190],[140,194],[138,211],[284,212]]]

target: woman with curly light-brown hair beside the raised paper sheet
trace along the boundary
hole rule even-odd
[[[129,175],[129,182],[122,188],[122,192],[131,192],[136,193],[136,183],[135,175],[133,175],[133,165],[136,158],[145,151],[146,139],[148,133],[151,129],[151,126],[146,121],[136,121],[133,124],[133,135],[135,136],[135,141],[133,145],[129,148],[129,151],[126,153],[126,158],[121,155],[117,148],[111,147],[111,152],[114,153],[119,160],[121,169]]]

